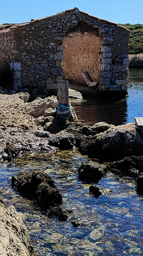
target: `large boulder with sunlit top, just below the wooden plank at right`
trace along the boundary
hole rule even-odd
[[[118,160],[127,156],[143,154],[143,139],[135,124],[128,123],[111,127],[92,138],[87,136],[81,141],[80,152],[102,160]]]

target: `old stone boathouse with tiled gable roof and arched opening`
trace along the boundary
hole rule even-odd
[[[30,94],[56,91],[62,79],[85,84],[83,71],[99,91],[126,91],[129,35],[117,23],[73,8],[1,28],[0,66],[10,62],[13,88]]]

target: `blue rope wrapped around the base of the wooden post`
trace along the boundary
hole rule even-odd
[[[57,115],[59,115],[62,118],[69,118],[71,116],[70,104],[67,104],[67,106],[64,106],[62,104],[57,103],[55,111],[56,111]]]

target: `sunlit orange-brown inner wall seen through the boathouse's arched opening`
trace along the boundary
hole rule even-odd
[[[82,76],[87,71],[92,81],[98,81],[100,37],[84,33],[63,39],[63,80],[85,84]]]

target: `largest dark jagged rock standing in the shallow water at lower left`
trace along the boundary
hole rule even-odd
[[[12,176],[11,184],[22,196],[36,200],[44,209],[62,202],[53,179],[44,171],[19,172],[17,177]]]

